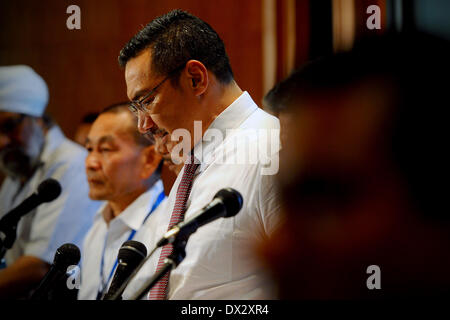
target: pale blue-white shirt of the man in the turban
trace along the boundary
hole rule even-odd
[[[0,190],[0,217],[36,192],[47,178],[61,184],[59,197],[43,203],[21,218],[17,239],[7,251],[7,266],[22,255],[35,256],[53,263],[56,249],[64,243],[81,247],[86,232],[92,225],[95,212],[101,205],[89,199],[84,169],[86,150],[68,140],[54,125],[47,132],[40,161],[42,165],[20,188],[20,182],[6,178]]]

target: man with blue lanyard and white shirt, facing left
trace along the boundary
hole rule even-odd
[[[154,143],[136,129],[127,104],[106,108],[86,141],[89,196],[106,200],[89,230],[81,261],[79,299],[100,299],[108,291],[117,254],[165,198],[161,156]]]

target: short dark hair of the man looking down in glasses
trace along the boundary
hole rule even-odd
[[[168,75],[194,59],[221,83],[233,80],[222,39],[208,23],[185,11],[173,10],[147,24],[120,51],[120,66],[147,48],[152,50],[152,69],[159,75]],[[176,84],[178,77],[173,80]]]

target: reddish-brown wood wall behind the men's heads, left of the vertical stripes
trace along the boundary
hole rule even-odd
[[[68,30],[69,5],[81,30]],[[238,84],[256,101],[262,92],[261,3],[253,0],[17,0],[0,2],[0,64],[28,64],[47,81],[47,111],[72,137],[81,117],[127,100],[122,46],[158,15],[181,8],[199,16],[225,42]]]

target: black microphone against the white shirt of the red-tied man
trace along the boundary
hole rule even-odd
[[[242,196],[238,191],[232,188],[221,189],[194,218],[180,222],[167,231],[156,246],[162,247],[173,243],[178,236],[189,237],[199,227],[216,219],[233,217],[241,210],[243,203]]]

